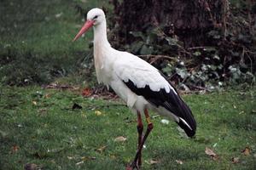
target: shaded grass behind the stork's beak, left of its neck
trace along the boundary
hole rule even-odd
[[[72,42],[82,24],[77,5],[109,6],[102,0],[2,0],[0,2],[0,82],[48,83],[84,69],[92,31]]]

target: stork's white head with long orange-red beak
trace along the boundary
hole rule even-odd
[[[81,37],[85,31],[88,31],[91,26],[100,25],[102,22],[106,21],[105,14],[101,8],[92,8],[87,13],[87,20],[84,23],[84,26],[81,28],[76,37],[73,38],[73,41],[76,41]]]

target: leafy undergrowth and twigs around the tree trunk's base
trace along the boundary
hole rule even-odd
[[[130,31],[126,37],[132,41],[131,45],[122,44],[119,37],[114,37],[117,41],[113,46],[143,59],[148,56],[148,61],[163,71],[168,79],[186,89],[212,90],[243,82],[253,84],[256,72],[253,16],[256,13],[247,3],[238,2],[226,4],[222,23],[216,23],[204,35],[210,45],[185,47],[173,32],[172,35],[166,33],[170,28],[162,24],[145,26],[146,31]],[[118,31],[122,30],[113,27],[114,33]]]

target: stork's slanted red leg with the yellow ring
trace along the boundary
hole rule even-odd
[[[138,160],[139,156],[141,155],[141,152],[143,150],[143,144],[145,143],[146,139],[148,138],[148,134],[153,129],[153,123],[150,121],[150,116],[148,115],[148,110],[145,109],[144,113],[145,113],[145,116],[146,116],[146,121],[148,123],[147,131],[146,131],[146,133],[143,137],[142,143],[139,145],[136,156],[135,156],[134,160],[132,161],[131,166],[126,168],[127,170],[128,169],[131,170],[131,169],[134,169],[134,168],[139,169],[139,167],[137,167],[137,160]]]

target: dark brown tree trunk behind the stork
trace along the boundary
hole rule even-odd
[[[227,0],[113,0],[118,38],[131,43],[129,31],[160,26],[167,36],[177,35],[185,47],[210,45],[206,33],[221,26]]]

